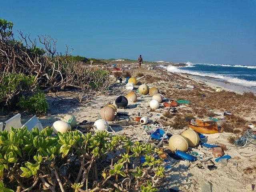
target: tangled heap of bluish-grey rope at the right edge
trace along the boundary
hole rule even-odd
[[[246,130],[244,136],[241,136],[238,140],[235,140],[235,144],[240,148],[246,147],[250,144],[256,145],[256,131],[252,129]]]

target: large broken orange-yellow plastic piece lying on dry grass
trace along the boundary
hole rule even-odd
[[[203,134],[219,133],[217,123],[215,121],[190,120],[188,126],[196,132]]]

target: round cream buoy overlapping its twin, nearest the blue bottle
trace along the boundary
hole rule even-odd
[[[188,140],[182,135],[173,135],[169,139],[169,147],[172,152],[176,150],[186,152],[188,150]]]

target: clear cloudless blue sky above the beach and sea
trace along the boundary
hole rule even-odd
[[[88,58],[256,65],[255,0],[5,0],[0,18]]]

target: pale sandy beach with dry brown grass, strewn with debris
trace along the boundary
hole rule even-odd
[[[246,187],[256,184],[256,146],[249,144],[244,148],[230,143],[230,138],[238,138],[249,129],[248,125],[256,126],[256,97],[247,96],[240,90],[232,90],[232,86],[219,86],[210,81],[184,74],[175,74],[168,72],[162,68],[154,67],[150,64],[142,64],[142,68],[138,68],[138,64],[127,62],[113,62],[120,65],[124,72],[129,72],[132,77],[139,78],[138,84],[133,92],[138,96],[137,102],[130,102],[124,109],[118,109],[118,116],[113,122],[109,122],[114,130],[113,134],[124,135],[132,141],[139,140],[146,142],[148,140],[148,132],[157,128],[170,126],[168,133],[181,134],[184,130],[189,129],[187,123],[181,122],[182,118],[187,116],[195,119],[209,120],[216,118],[217,120],[225,120],[230,125],[230,129],[223,126],[222,131],[216,134],[205,134],[206,138],[200,138],[200,142],[212,145],[222,146],[224,155],[230,155],[226,166],[221,166],[215,161],[211,148],[202,148],[198,145],[196,150],[200,152],[195,162],[187,160],[177,160],[172,158],[168,153],[168,140],[160,147],[163,148],[167,155],[167,160],[162,166],[165,167],[165,178],[160,180],[158,189],[160,192],[168,192],[170,189],[184,192],[201,192],[201,184],[208,181],[212,188],[212,192],[246,192]],[[104,69],[111,69],[113,63],[95,66]],[[148,70],[150,69],[150,70]],[[124,80],[124,78],[123,78]],[[164,101],[169,100],[187,100],[189,104],[180,104],[176,107],[177,112],[172,113],[172,108],[163,106],[163,102],[156,110],[150,109],[149,102],[152,97],[149,95],[140,95],[137,91],[139,85],[147,84],[149,88],[157,87],[162,94]],[[58,92],[58,97],[54,93],[48,93],[46,98],[50,105],[46,116],[38,116],[38,119],[44,127],[52,126],[53,122],[65,116],[73,114],[76,117],[78,130],[86,132],[90,130],[92,125],[99,117],[100,109],[108,103],[115,103],[118,96],[126,96],[130,90],[126,90],[125,83],[116,83],[109,90],[109,93],[102,95],[96,94],[90,102],[81,104],[74,97],[72,90]],[[216,92],[220,89],[220,92]],[[0,121],[4,122],[16,113],[22,116],[22,124],[29,120],[34,114],[32,112],[0,112]],[[170,116],[164,114],[169,112]],[[223,112],[233,114],[232,117],[222,115]],[[214,114],[215,113],[215,114]],[[139,122],[135,122],[135,116],[147,116],[149,123],[145,128]],[[216,115],[219,114],[219,115]],[[134,122],[129,126],[115,125],[120,122]],[[223,121],[222,121],[223,122]],[[176,123],[176,124],[175,124]],[[217,122],[218,123],[218,122]],[[219,124],[219,123],[218,123]],[[88,125],[88,128],[84,128]],[[176,126],[174,126],[176,125]],[[222,124],[219,124],[222,126]],[[225,129],[226,128],[226,129]],[[167,131],[167,128],[163,128]],[[158,145],[159,141],[153,141]],[[188,152],[192,152],[189,150]],[[206,158],[208,158],[207,161]],[[215,165],[217,169],[209,170],[208,165]]]

